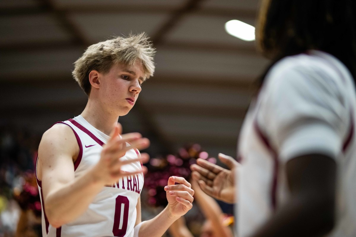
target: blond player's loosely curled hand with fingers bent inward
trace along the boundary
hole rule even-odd
[[[179,184],[174,184],[175,182]],[[182,177],[171,176],[164,187],[168,200],[168,211],[171,217],[183,216],[193,207],[194,190],[192,185]]]

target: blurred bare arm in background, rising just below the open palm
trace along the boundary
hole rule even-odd
[[[219,204],[210,196],[205,194],[196,181],[192,181],[192,188],[194,189],[194,197],[198,202],[200,210],[203,212],[206,219],[210,220],[211,228],[214,236],[232,237],[232,232],[229,227],[223,225],[221,210]]]

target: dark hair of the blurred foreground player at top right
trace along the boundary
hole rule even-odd
[[[355,0],[269,0],[262,6],[257,43],[272,64],[309,49],[334,55],[356,79]]]

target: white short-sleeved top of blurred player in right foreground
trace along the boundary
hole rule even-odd
[[[251,235],[282,206],[286,163],[310,153],[337,163],[337,222],[328,236],[356,236],[355,109],[354,80],[334,56],[311,50],[272,67],[239,138],[238,236]]]

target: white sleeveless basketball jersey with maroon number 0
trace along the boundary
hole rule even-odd
[[[99,161],[102,146],[110,137],[90,125],[81,115],[59,122],[59,124],[70,126],[77,138],[79,155],[74,163],[74,175],[75,177],[81,176]],[[120,159],[134,159],[137,156],[139,156],[138,150],[132,149]],[[135,162],[121,169],[126,172],[136,171],[141,169],[141,163]],[[37,183],[41,193],[43,237],[133,236],[137,199],[143,187],[142,173],[124,177],[110,187],[103,187],[83,215],[59,228],[54,228],[47,221],[46,206],[43,206],[42,200],[41,181],[37,179]]]

